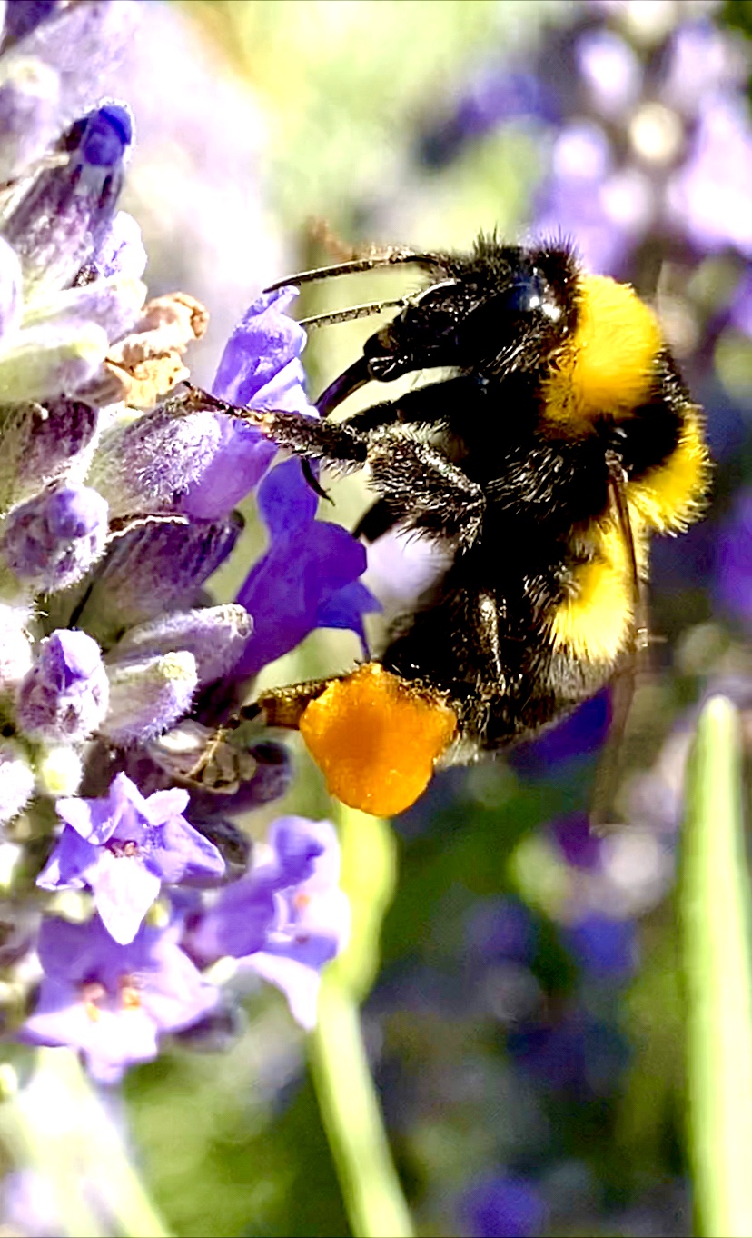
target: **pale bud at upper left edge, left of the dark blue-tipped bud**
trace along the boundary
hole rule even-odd
[[[0,182],[15,181],[59,134],[59,78],[42,61],[11,57],[0,77]]]

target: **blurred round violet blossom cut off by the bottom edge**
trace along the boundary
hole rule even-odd
[[[537,1238],[548,1219],[538,1187],[512,1175],[474,1182],[460,1198],[458,1213],[468,1238]]]

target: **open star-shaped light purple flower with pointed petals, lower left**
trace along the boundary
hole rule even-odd
[[[105,928],[127,945],[163,881],[212,881],[224,874],[216,847],[182,816],[187,803],[182,790],[143,799],[126,774],[115,777],[106,799],[58,800],[66,828],[37,885],[90,889]]]

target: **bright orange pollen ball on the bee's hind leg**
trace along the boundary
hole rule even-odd
[[[378,662],[335,680],[299,722],[331,795],[375,817],[416,802],[455,729],[454,709]]]

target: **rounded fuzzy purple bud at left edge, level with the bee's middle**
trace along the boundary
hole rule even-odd
[[[0,550],[19,579],[45,593],[75,584],[103,555],[108,505],[89,487],[47,490],[9,515]]]

